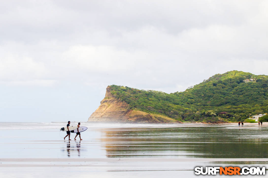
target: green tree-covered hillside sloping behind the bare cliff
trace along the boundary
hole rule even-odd
[[[116,85],[110,88],[114,97],[129,104],[129,109],[179,121],[236,122],[268,112],[268,76],[242,71],[216,74],[184,92],[170,94]]]

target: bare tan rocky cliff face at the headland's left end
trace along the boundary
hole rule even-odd
[[[96,122],[138,122],[138,123],[172,123],[175,119],[128,109],[128,104],[113,97],[111,88],[106,88],[105,98],[98,109],[91,114],[88,121]]]

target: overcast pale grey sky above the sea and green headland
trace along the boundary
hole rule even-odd
[[[268,1],[2,1],[0,121],[87,121],[116,84],[268,75]]]

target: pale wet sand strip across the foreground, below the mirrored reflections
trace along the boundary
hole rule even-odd
[[[0,175],[1,170],[5,172],[9,169],[16,168],[17,171],[35,171],[43,172],[41,177],[49,175],[51,169],[55,169],[53,176],[60,175],[64,169],[70,173],[75,171],[86,171],[105,175],[105,172],[165,172],[165,171],[188,171],[192,176],[196,166],[229,166],[229,165],[262,165],[265,167],[268,158],[1,158],[0,159]],[[164,165],[164,166],[163,166]],[[267,168],[267,167],[266,167]],[[5,170],[3,170],[5,169]],[[58,170],[57,170],[58,169]],[[75,169],[75,170],[74,170]],[[10,175],[10,173],[8,173]],[[36,175],[40,173],[37,172]],[[113,173],[112,175],[114,176]],[[117,175],[120,176],[120,175]],[[126,175],[123,175],[123,177]],[[129,175],[128,175],[129,176]],[[153,175],[152,175],[153,176]],[[159,177],[159,175],[154,175]],[[191,177],[192,177],[191,176]],[[23,177],[28,177],[28,173]],[[71,176],[70,177],[76,177]]]

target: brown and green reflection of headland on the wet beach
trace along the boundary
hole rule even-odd
[[[267,128],[243,129],[204,125],[105,129],[101,141],[107,157],[267,158],[263,151],[268,149]]]

